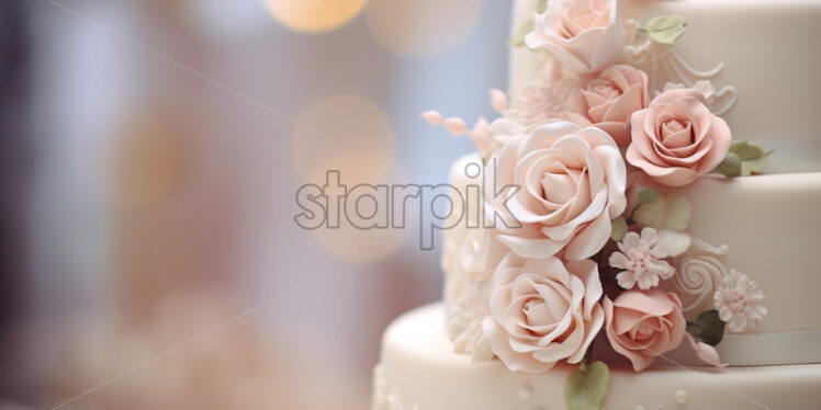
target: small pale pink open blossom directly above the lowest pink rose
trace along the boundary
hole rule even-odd
[[[623,269],[616,275],[619,286],[631,289],[637,284],[642,291],[659,286],[659,280],[671,278],[676,270],[663,260],[656,246],[659,236],[653,228],[644,228],[641,236],[627,232],[618,243],[621,252],[610,254],[610,266]]]

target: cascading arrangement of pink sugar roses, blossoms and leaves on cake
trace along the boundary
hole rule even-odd
[[[485,218],[498,220],[457,243],[457,352],[514,372],[577,365],[567,402],[587,405],[574,409],[600,408],[607,391],[594,344],[640,372],[686,340],[722,367],[724,331],[754,330],[767,314],[755,282],[721,262],[728,248],[688,234],[682,187],[761,172],[772,151],[732,141],[719,114],[734,89],[656,69],[686,67],[674,48],[685,27],[678,16],[622,22],[617,0],[540,1],[511,44],[546,55],[543,70],[509,94],[491,90],[499,118],[469,128],[423,114],[470,136],[493,175]]]

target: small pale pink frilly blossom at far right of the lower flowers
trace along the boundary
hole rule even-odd
[[[767,315],[767,308],[761,306],[764,293],[747,275],[735,270],[721,278],[713,299],[719,318],[733,332],[747,327],[755,329],[755,323]]]

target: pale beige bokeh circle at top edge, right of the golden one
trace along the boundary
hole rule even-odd
[[[425,58],[462,44],[481,11],[481,0],[371,0],[365,15],[383,47],[403,57]]]

